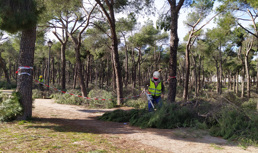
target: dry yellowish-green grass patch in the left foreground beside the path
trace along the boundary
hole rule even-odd
[[[0,123],[0,153],[141,152],[142,146],[137,147],[130,140],[121,142],[119,135],[94,134],[81,126],[74,126],[76,123],[69,125],[64,121],[49,121],[32,118],[32,121]],[[150,148],[149,152],[155,151]]]

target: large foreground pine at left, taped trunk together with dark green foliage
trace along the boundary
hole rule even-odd
[[[22,31],[19,66],[33,67],[36,23],[41,8],[34,0],[0,0],[0,29],[10,33]],[[22,72],[32,74],[32,69],[19,70],[19,73]],[[17,120],[26,120],[32,116],[32,79],[32,75],[18,75],[16,91],[21,93],[20,102],[24,111],[17,116]]]

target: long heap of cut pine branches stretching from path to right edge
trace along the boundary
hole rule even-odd
[[[256,101],[256,100],[253,100]],[[196,103],[195,103],[196,102]],[[197,102],[199,106],[197,106]],[[254,104],[251,101],[253,108]],[[107,112],[99,119],[104,121],[128,122],[140,128],[195,127],[210,129],[213,136],[238,140],[241,145],[257,145],[258,112],[222,101],[186,101],[178,104],[164,104],[156,111],[147,109],[116,110]],[[204,115],[199,115],[199,113]]]

